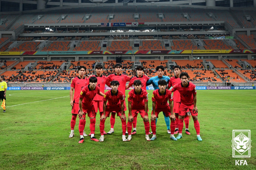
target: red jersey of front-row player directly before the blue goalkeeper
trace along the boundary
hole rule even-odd
[[[172,102],[172,92],[165,90],[164,94],[160,93],[160,89],[154,90],[152,94],[152,102],[156,102],[156,108],[163,109],[169,106],[169,102]]]

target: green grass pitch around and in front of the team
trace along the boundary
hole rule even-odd
[[[152,92],[148,90],[150,110]],[[132,135],[130,142],[122,142],[122,126],[117,117],[115,133],[105,135],[104,142],[96,143],[85,137],[84,143],[78,144],[78,118],[75,137],[68,138],[69,91],[8,91],[6,104],[6,113],[0,112],[0,169],[256,168],[256,90],[198,90],[202,142],[196,139],[192,120],[189,125],[191,135],[186,135],[183,129],[183,138],[172,141],[160,113],[155,141],[146,141],[144,124],[138,115],[137,133]],[[23,105],[14,106],[18,104]],[[100,137],[99,118],[98,114],[97,139]],[[90,133],[89,124],[86,117],[87,134]],[[107,118],[105,130],[109,129],[110,119]],[[232,158],[233,129],[251,130],[251,158]],[[235,160],[246,160],[248,166],[235,166]]]

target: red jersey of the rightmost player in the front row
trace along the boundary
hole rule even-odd
[[[196,94],[196,86],[192,82],[188,82],[186,87],[182,86],[182,83],[176,84],[172,87],[171,92],[175,90],[180,92],[180,101],[185,105],[194,104],[194,96]]]

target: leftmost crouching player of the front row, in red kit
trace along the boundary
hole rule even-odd
[[[96,96],[96,94],[99,94],[101,96],[104,96],[102,92],[100,92],[100,88],[97,87],[97,78],[96,77],[90,77],[89,78],[89,85],[84,86],[84,88],[80,92],[80,99],[79,99],[79,108],[80,111],[78,113],[79,117],[79,133],[80,133],[80,140],[78,143],[84,142],[84,119],[85,115],[87,113],[88,117],[90,117],[90,130],[91,130],[91,141],[98,142],[99,140],[94,137],[94,131],[95,131],[95,123],[96,123],[96,113],[95,108],[93,106],[93,98]]]

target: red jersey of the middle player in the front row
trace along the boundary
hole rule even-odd
[[[135,92],[135,89],[130,90],[128,93],[128,102],[132,102],[132,108],[144,108],[145,102],[148,102],[148,92],[142,88],[139,94]]]

